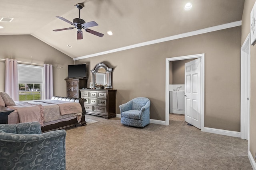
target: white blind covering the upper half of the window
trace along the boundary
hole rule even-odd
[[[18,83],[42,84],[43,67],[18,64]]]

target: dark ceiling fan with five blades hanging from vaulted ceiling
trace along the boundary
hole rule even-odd
[[[69,28],[62,28],[62,29],[54,29],[53,31],[63,31],[63,30],[67,30],[67,29],[74,29],[77,28],[77,39],[83,39],[83,32],[82,32],[82,28],[85,29],[86,32],[97,35],[99,37],[103,37],[104,34],[99,33],[97,31],[94,31],[92,29],[88,29],[88,27],[94,27],[97,26],[98,23],[96,23],[95,21],[90,21],[90,22],[85,22],[83,19],[80,18],[80,10],[84,7],[84,4],[82,3],[78,3],[75,5],[76,8],[78,8],[79,10],[79,16],[78,18],[75,18],[73,20],[73,22],[66,20],[63,17],[59,17],[56,16],[57,18],[59,18],[60,20],[66,21],[67,23],[70,23],[71,25],[73,25],[74,27],[69,27]]]

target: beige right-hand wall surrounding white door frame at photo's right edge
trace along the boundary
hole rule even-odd
[[[242,17],[242,41],[241,45],[244,43],[247,35],[250,33],[250,12],[252,10],[252,7],[254,6],[255,0],[245,0],[244,2],[244,12]],[[252,41],[252,40],[251,40]],[[256,47],[250,46],[250,152],[255,158],[255,152],[256,152],[256,89],[254,88],[256,86]],[[254,160],[255,161],[255,160]]]

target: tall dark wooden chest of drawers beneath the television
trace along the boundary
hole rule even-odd
[[[87,88],[87,79],[68,78],[65,79],[67,83],[67,97],[80,98],[78,89]]]

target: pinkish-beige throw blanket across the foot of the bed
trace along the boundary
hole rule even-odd
[[[48,104],[57,104],[60,107],[60,114],[66,115],[71,113],[82,113],[82,107],[76,102],[67,102],[62,100],[35,100],[36,102],[44,102]]]

